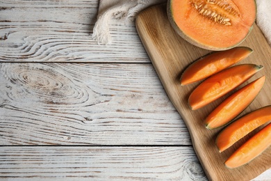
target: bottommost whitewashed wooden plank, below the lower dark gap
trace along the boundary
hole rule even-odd
[[[191,147],[5,146],[0,162],[0,180],[207,180]]]

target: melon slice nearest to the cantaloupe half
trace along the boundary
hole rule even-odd
[[[192,84],[196,81],[206,79],[212,74],[220,72],[234,63],[243,60],[249,54],[252,54],[252,52],[253,50],[249,47],[235,47],[203,56],[186,68],[181,75],[181,85]]]

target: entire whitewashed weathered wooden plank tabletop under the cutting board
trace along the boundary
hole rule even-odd
[[[134,22],[91,39],[98,3],[0,1],[0,180],[207,180]]]

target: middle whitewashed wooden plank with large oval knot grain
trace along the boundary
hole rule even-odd
[[[151,64],[0,63],[0,145],[190,145]]]

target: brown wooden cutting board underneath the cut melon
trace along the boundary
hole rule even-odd
[[[136,27],[142,44],[144,45],[151,62],[156,69],[158,77],[161,79],[163,87],[168,97],[179,111],[183,121],[186,123],[192,144],[204,168],[209,180],[251,180],[271,167],[271,148],[265,150],[262,155],[252,162],[239,168],[229,169],[224,166],[224,161],[231,153],[252,136],[258,129],[244,139],[239,141],[232,148],[220,153],[215,146],[215,137],[220,129],[208,130],[203,125],[206,118],[215,106],[217,106],[225,97],[209,104],[208,106],[192,111],[187,104],[188,96],[199,83],[189,86],[181,86],[179,78],[181,72],[200,56],[208,54],[210,51],[200,49],[190,45],[190,43],[178,36],[167,19],[166,5],[158,5],[147,8],[136,18]],[[254,77],[245,82],[245,84],[261,77],[265,74],[266,81],[261,93],[256,100],[249,105],[240,115],[253,111],[260,107],[271,104],[271,49],[266,42],[261,30],[254,25],[248,38],[239,46],[250,47],[254,52],[240,63],[255,63],[264,66],[263,70]],[[238,63],[238,64],[240,64]],[[243,84],[242,86],[244,86]],[[241,87],[241,86],[240,86]],[[240,88],[239,87],[239,88]]]

